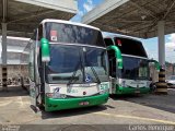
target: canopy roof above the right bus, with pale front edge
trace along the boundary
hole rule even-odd
[[[105,32],[141,38],[158,36],[159,21],[165,21],[165,34],[175,32],[175,0],[105,0],[82,20]]]

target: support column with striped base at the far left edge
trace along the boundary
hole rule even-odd
[[[2,23],[2,91],[8,91],[7,80],[7,23]]]

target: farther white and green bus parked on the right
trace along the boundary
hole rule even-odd
[[[141,41],[126,36],[107,36],[104,40],[106,46],[117,46],[122,60],[122,68],[119,69],[115,52],[108,51],[110,94],[149,93],[151,90],[149,63],[153,62],[156,70],[160,70],[160,64],[155,60],[149,60]]]

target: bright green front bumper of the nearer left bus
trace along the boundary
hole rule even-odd
[[[88,106],[102,105],[107,103],[108,94],[96,96],[79,97],[79,98],[49,98],[45,97],[45,110],[55,111],[61,109],[80,108]]]

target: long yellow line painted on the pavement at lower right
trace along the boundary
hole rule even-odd
[[[135,116],[127,116],[127,115],[114,115],[114,114],[106,114],[106,112],[94,112],[95,115],[102,115],[102,116],[109,116],[109,117],[120,117],[120,118],[128,118],[128,119],[136,119],[136,120],[145,120],[145,121],[153,121],[153,122],[161,122],[166,124],[175,124],[175,121],[168,121],[168,120],[160,120],[160,119],[152,119],[152,118],[143,118],[143,117],[135,117]]]

